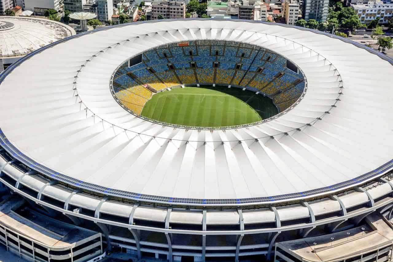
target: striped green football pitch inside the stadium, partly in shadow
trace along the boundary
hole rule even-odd
[[[235,87],[166,90],[154,94],[141,112],[154,120],[196,127],[249,124],[274,114],[277,109],[270,98]]]

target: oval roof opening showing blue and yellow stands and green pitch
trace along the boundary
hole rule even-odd
[[[305,92],[292,61],[261,46],[197,40],[157,46],[127,59],[111,92],[132,114],[185,128],[259,124],[290,110]]]

